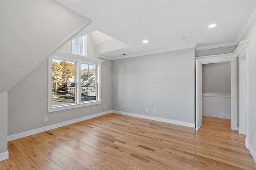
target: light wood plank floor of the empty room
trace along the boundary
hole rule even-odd
[[[8,142],[14,170],[256,169],[230,120],[204,117],[194,128],[108,114]]]

